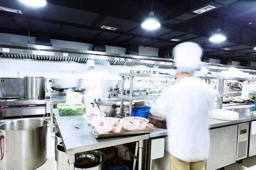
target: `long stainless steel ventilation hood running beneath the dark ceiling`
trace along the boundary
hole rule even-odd
[[[139,66],[143,65],[149,68],[167,68],[175,69],[175,59],[166,59],[158,57],[135,56],[127,54],[115,54],[98,51],[87,51],[70,48],[49,47],[44,45],[29,45],[14,42],[0,41],[0,57],[10,59],[35,59],[57,62],[81,62],[93,59],[96,64]],[[201,66],[207,65],[209,71],[220,72],[228,70],[233,65],[223,65],[201,62]],[[198,70],[200,70],[198,68]],[[256,74],[256,70],[250,67],[238,66],[240,71]]]

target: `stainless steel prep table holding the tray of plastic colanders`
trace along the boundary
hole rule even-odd
[[[138,169],[142,170],[143,163],[143,140],[149,138],[149,134],[116,137],[108,139],[96,139],[92,133],[92,128],[84,120],[83,115],[59,116],[58,109],[53,109],[55,122],[58,125],[59,133],[69,156],[69,170],[75,169],[75,154],[89,150],[111,147],[130,142],[139,142]],[[55,126],[56,126],[55,124]],[[79,129],[75,128],[79,127]]]

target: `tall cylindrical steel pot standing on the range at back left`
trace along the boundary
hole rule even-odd
[[[23,77],[24,98],[44,99],[45,98],[45,78],[44,77]]]

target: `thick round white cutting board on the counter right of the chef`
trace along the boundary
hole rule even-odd
[[[209,118],[212,119],[219,119],[219,120],[238,120],[239,119],[239,113],[235,111],[228,111],[224,109],[212,109],[209,111]]]

